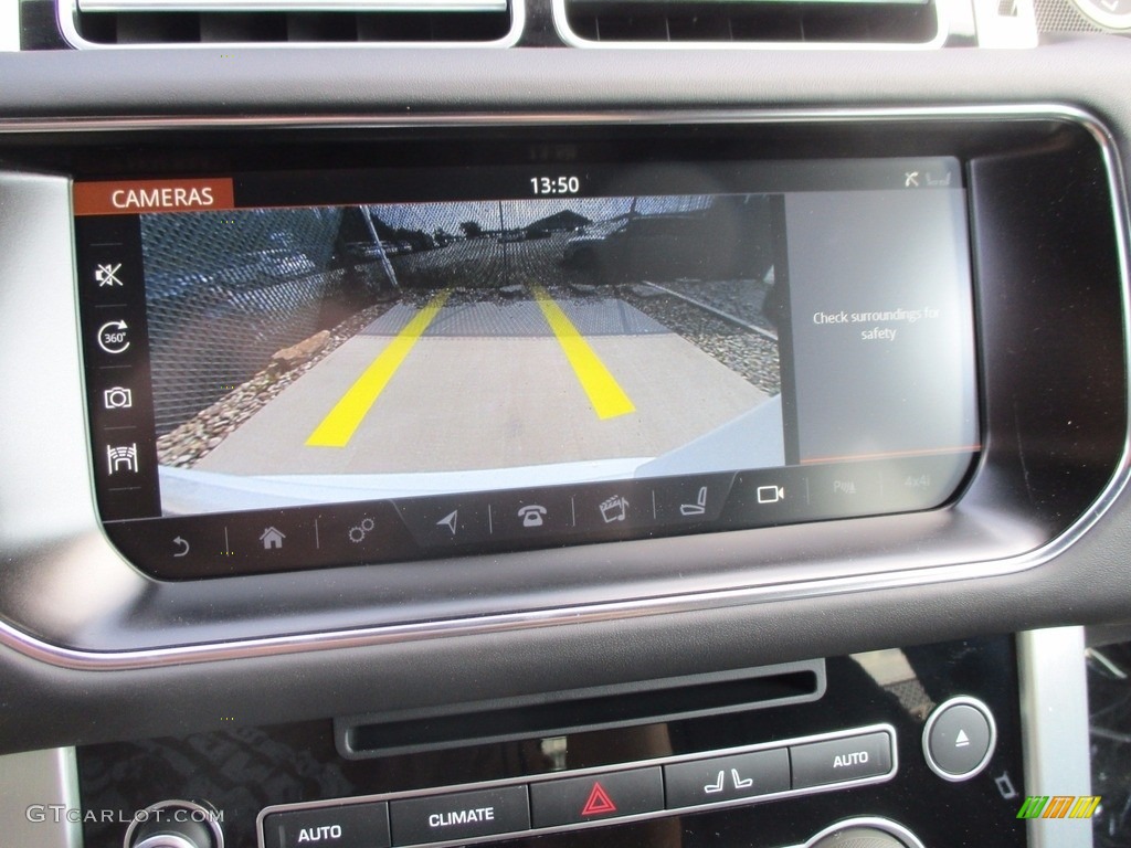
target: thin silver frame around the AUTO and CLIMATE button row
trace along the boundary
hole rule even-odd
[[[316,801],[303,804],[275,804],[264,807],[256,816],[256,833],[259,838],[259,848],[264,847],[264,820],[273,813],[293,813],[304,810],[325,810],[327,807],[349,806],[354,804],[371,804],[375,802],[392,802],[406,798],[426,798],[435,795],[458,795],[466,791],[480,791],[483,789],[497,789],[507,786],[530,786],[533,784],[545,784],[558,780],[570,780],[572,778],[601,777],[619,771],[632,771],[636,769],[662,768],[683,762],[697,762],[700,760],[716,760],[723,756],[734,756],[735,754],[750,754],[757,751],[779,751],[797,745],[808,745],[817,742],[832,742],[836,739],[852,738],[854,736],[866,736],[873,733],[884,733],[888,735],[888,744],[891,751],[891,768],[882,773],[854,780],[844,780],[835,784],[822,784],[805,789],[786,789],[779,793],[767,793],[766,795],[754,795],[749,798],[734,798],[723,801],[717,804],[699,804],[689,807],[665,807],[650,813],[639,813],[637,815],[622,815],[608,819],[599,819],[592,822],[579,822],[576,824],[564,824],[554,828],[535,828],[529,830],[507,831],[503,833],[492,833],[483,837],[468,837],[439,842],[414,842],[412,848],[447,848],[448,846],[475,845],[478,842],[498,842],[503,839],[526,838],[530,836],[545,836],[547,833],[560,833],[563,831],[586,830],[610,824],[628,824],[630,822],[648,821],[650,819],[663,819],[665,816],[684,815],[688,813],[699,813],[709,810],[722,810],[734,806],[749,806],[761,804],[766,801],[777,801],[779,798],[795,798],[804,795],[817,795],[819,793],[835,791],[837,789],[848,789],[854,786],[870,786],[872,784],[884,784],[899,773],[899,745],[897,744],[896,728],[888,724],[867,725],[865,727],[854,727],[847,730],[832,730],[830,733],[815,734],[813,736],[798,736],[793,739],[782,742],[763,742],[758,745],[743,745],[722,751],[705,751],[696,754],[681,754],[679,756],[664,756],[655,760],[642,760],[638,762],[616,763],[615,765],[598,765],[592,769],[578,769],[576,771],[556,771],[545,775],[532,775],[523,778],[506,778],[502,780],[491,780],[482,784],[459,784],[457,786],[437,786],[428,789],[408,790],[400,793],[383,793],[379,795],[362,795],[353,798],[331,798],[330,801]],[[792,775],[791,775],[792,780]],[[665,793],[666,795],[666,793]],[[666,798],[665,798],[666,802]]]

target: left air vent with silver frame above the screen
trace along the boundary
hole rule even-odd
[[[70,16],[60,9],[60,20],[77,46],[279,43],[510,46],[521,33],[521,2],[77,0]],[[74,21],[74,27],[67,26],[69,21]]]

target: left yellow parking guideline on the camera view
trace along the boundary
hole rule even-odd
[[[440,292],[413,317],[412,321],[405,325],[405,328],[394,337],[388,347],[381,351],[380,355],[357,378],[357,381],[334,405],[329,414],[322,418],[322,423],[307,440],[308,448],[344,448],[349,443],[353,434],[361,426],[373,404],[377,403],[378,397],[385,391],[385,387],[389,384],[389,380],[397,373],[397,369],[404,363],[413,346],[424,335],[429,325],[432,323],[450,296],[450,288]]]

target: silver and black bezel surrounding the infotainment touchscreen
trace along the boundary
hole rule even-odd
[[[27,555],[10,561],[7,579],[12,591],[6,597],[14,600],[0,612],[17,629],[12,639],[63,665],[140,667],[1002,576],[1057,555],[1122,491],[1126,478],[1124,208],[1110,135],[1090,115],[1065,106],[995,106],[745,116],[621,113],[589,120],[590,129],[632,122],[634,131],[645,135],[681,127],[701,135],[703,128],[718,127],[732,137],[744,135],[751,149],[788,145],[795,153],[814,156],[938,154],[970,163],[987,450],[953,503],[925,513],[389,566],[381,570],[380,581],[374,581],[371,568],[356,566],[335,570],[333,580],[326,572],[303,572],[167,583],[131,569],[106,543],[93,511],[88,467],[81,473],[74,464],[49,464],[57,479],[51,491],[78,493],[75,509],[81,507],[84,529],[77,536],[51,537],[53,542],[44,537],[26,548]],[[569,115],[526,121],[529,131],[541,133],[547,123],[556,128],[584,123]],[[265,121],[253,131],[247,121],[235,123],[227,130],[214,122],[173,121],[170,127],[175,127],[189,154],[199,154],[208,144],[222,150],[251,149],[257,139],[273,132],[291,142],[351,132],[406,133],[404,126],[378,122],[360,130],[365,121],[359,119],[322,119],[313,126]],[[509,126],[475,128],[475,122],[458,119],[423,123],[420,131],[433,138],[437,133],[498,138],[517,131]],[[6,159],[37,174],[16,180],[26,190],[12,196],[23,204],[14,209],[25,210],[35,224],[26,245],[15,246],[43,268],[26,300],[36,310],[50,308],[67,315],[75,310],[71,260],[63,256],[44,262],[43,258],[58,252],[57,246],[45,245],[58,245],[70,230],[68,175],[119,174],[122,150],[138,153],[143,164],[145,157],[156,163],[171,139],[153,132],[154,127],[149,132],[107,131],[80,139],[75,130],[84,129],[90,127],[71,122],[38,132],[25,127],[5,140]],[[1041,181],[1031,179],[1036,173]],[[11,178],[6,179],[11,184]],[[1026,214],[1017,216],[1018,211]],[[1003,226],[986,225],[991,219]],[[1067,271],[1053,272],[1047,262],[1037,261],[1034,244],[1062,260],[1086,263],[1073,266],[1069,277],[1080,279],[1087,272],[1090,280],[1088,286],[1073,286],[1076,309],[1065,311],[1067,304],[1056,297],[1036,296],[1060,291]],[[1062,319],[1088,334],[1089,345],[1053,352],[1030,344],[1035,320]],[[69,352],[75,362],[75,323],[59,323],[64,325],[62,334],[54,327],[48,336],[38,330],[15,340],[49,344],[53,351]],[[58,378],[51,383],[57,415],[50,424],[83,441],[86,425],[77,372],[50,373]],[[1080,373],[1094,378],[1081,387],[1076,380]],[[1056,379],[1050,381],[1050,375]],[[42,390],[40,380],[42,374],[33,379],[18,371],[7,373],[6,397],[17,403],[27,392]],[[1070,433],[1063,429],[1065,421],[1073,422]],[[44,462],[32,460],[14,464],[3,482],[12,500],[26,497],[35,491],[33,482],[42,481]],[[37,504],[28,502],[26,509],[48,512],[57,507]],[[60,545],[81,552],[81,557],[57,559],[45,574],[40,552],[59,551]],[[68,581],[68,604],[60,603],[58,586],[51,591],[35,588],[45,579]],[[29,637],[31,632],[36,635]]]

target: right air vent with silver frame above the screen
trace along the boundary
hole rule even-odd
[[[554,0],[562,37],[576,46],[942,42],[934,0]]]

